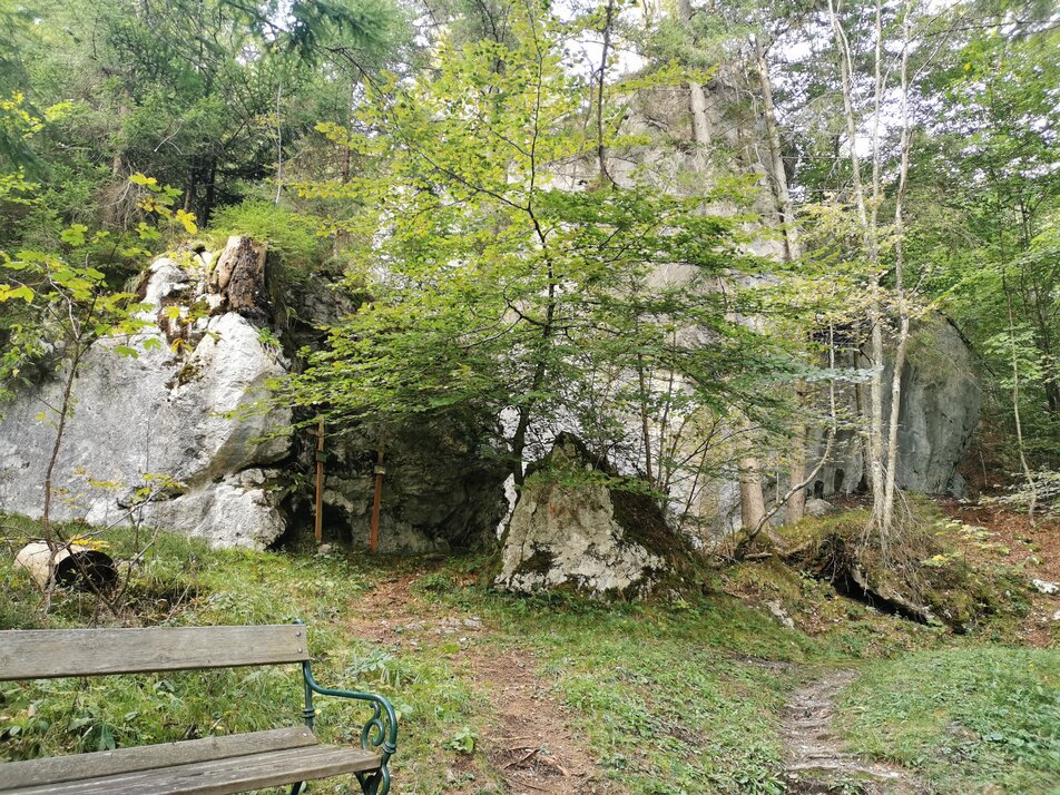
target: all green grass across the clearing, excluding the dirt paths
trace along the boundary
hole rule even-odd
[[[116,557],[134,549],[129,531],[107,539]],[[10,559],[0,558],[0,628],[114,622],[72,591],[59,592],[41,620],[36,590]],[[382,693],[399,709],[402,794],[504,792],[503,772],[480,742],[497,707],[468,665],[470,654],[501,651],[533,660],[566,706],[576,742],[629,793],[784,792],[783,706],[793,688],[834,666],[865,670],[841,715],[854,747],[911,767],[939,792],[988,781],[1004,792],[1042,792],[1058,776],[1057,652],[976,646],[974,637],[867,611],[765,565],[705,572],[706,593],[605,605],[468,585],[485,563],[217,551],[158,534],[130,583],[125,621],[304,619],[322,684]],[[350,620],[359,600],[406,575],[424,603],[415,618],[477,615],[487,631],[467,644],[431,632],[415,644],[359,636]],[[723,588],[779,599],[825,628],[815,637],[785,629]],[[294,667],[8,683],[0,685],[0,758],[293,725],[300,699]],[[318,706],[326,738],[354,739],[363,713],[338,699]],[[315,791],[352,792],[341,779]]]

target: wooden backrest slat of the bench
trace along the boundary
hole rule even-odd
[[[301,662],[305,627],[150,627],[0,631],[0,680]]]

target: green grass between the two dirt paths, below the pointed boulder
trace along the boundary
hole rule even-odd
[[[727,597],[680,608],[450,595],[533,650],[600,765],[635,793],[781,793],[786,667],[821,657]],[[744,661],[746,660],[746,661]]]

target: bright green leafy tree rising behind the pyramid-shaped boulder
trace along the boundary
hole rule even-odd
[[[325,128],[381,164],[302,186],[363,207],[332,223],[362,243],[346,286],[364,301],[289,394],[377,422],[492,418],[517,483],[576,425],[670,488],[678,463],[699,465],[683,444],[693,426],[734,406],[756,415],[769,403],[760,379],[785,366],[734,320],[739,297],[715,287],[765,263],[738,252],[737,219],[706,212],[717,195],[595,171],[601,128],[581,121],[599,84],[563,66],[556,19],[523,9],[509,23],[506,42],[443,43],[414,85],[372,85],[366,132]]]

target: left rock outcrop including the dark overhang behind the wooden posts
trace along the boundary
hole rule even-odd
[[[289,289],[275,265],[245,237],[217,257],[185,252],[151,265],[139,292],[155,326],[131,341],[139,355],[117,355],[117,342],[102,341],[79,371],[55,518],[136,520],[252,548],[312,524],[313,440],[293,430],[289,408],[255,406],[293,366],[278,340],[292,337],[293,353],[350,307],[321,285]],[[161,344],[146,350],[148,338]],[[0,511],[40,514],[55,430],[39,414],[58,404],[59,390],[60,379],[46,379],[0,405]],[[328,428],[330,538],[366,542],[375,445],[356,428]],[[507,470],[483,454],[473,429],[441,421],[404,429],[387,442],[383,550],[492,540]]]

